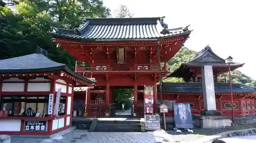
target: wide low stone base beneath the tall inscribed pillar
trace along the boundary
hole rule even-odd
[[[223,116],[193,116],[194,124],[201,128],[223,128],[231,126],[230,117]]]

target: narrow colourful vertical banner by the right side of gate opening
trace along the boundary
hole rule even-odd
[[[144,86],[145,93],[145,113],[153,113],[154,96],[153,86]]]

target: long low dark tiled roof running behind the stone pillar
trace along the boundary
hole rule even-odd
[[[158,85],[159,91],[159,85]],[[163,93],[202,93],[202,83],[162,83]],[[232,83],[233,93],[253,93],[256,92],[254,87],[240,83]],[[215,83],[215,93],[230,93],[229,83]]]

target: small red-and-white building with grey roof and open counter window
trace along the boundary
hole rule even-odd
[[[37,53],[0,61],[0,134],[53,135],[71,127],[74,87],[94,80]],[[59,119],[53,116],[61,89]]]

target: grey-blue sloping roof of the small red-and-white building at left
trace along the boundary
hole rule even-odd
[[[88,83],[96,82],[74,73],[67,67],[67,65],[54,62],[42,53],[33,53],[16,58],[0,60],[0,73],[33,73],[59,70],[64,70],[70,75]]]

